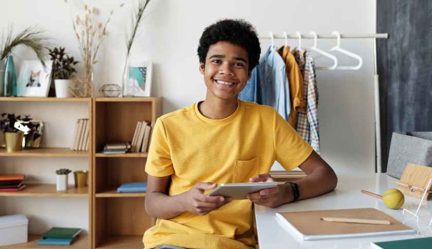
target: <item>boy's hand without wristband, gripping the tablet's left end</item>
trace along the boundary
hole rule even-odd
[[[196,183],[192,189],[184,193],[184,198],[182,198],[184,210],[197,215],[206,215],[230,202],[231,198],[204,194],[205,190],[214,189],[216,186],[218,184],[210,182]]]

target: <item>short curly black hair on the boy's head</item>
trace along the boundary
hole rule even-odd
[[[243,19],[223,19],[204,29],[198,46],[200,63],[206,63],[208,48],[219,41],[228,41],[244,48],[249,59],[249,72],[258,65],[261,47],[254,26]]]

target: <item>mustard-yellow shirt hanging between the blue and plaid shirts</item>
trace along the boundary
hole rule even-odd
[[[290,84],[291,95],[291,112],[288,117],[288,122],[292,127],[296,127],[297,123],[297,110],[305,110],[306,101],[304,99],[303,75],[301,74],[300,67],[291,53],[290,47],[280,47],[278,49],[279,55],[285,61],[286,75]]]

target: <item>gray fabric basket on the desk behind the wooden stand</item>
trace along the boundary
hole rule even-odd
[[[387,175],[400,179],[408,163],[432,167],[432,132],[393,132]]]

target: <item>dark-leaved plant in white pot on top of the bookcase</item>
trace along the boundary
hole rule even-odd
[[[53,61],[52,75],[56,88],[56,96],[58,98],[72,97],[70,88],[73,87],[74,81],[71,78],[77,72],[74,66],[78,61],[75,61],[74,56],[66,54],[62,47],[49,49],[49,55]]]

